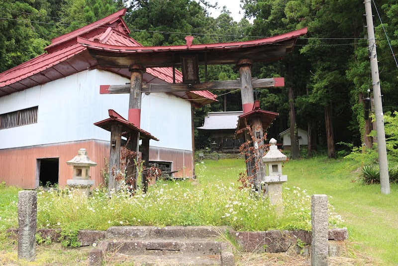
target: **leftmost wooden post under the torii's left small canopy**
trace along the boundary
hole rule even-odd
[[[112,189],[119,189],[119,182],[116,177],[120,169],[120,142],[121,142],[121,125],[112,125],[110,129],[110,155],[109,155],[109,193]]]

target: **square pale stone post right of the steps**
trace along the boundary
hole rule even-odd
[[[311,266],[328,264],[328,214],[327,196],[311,197]]]

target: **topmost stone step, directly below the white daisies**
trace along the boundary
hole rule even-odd
[[[229,227],[212,226],[112,226],[106,230],[107,239],[145,239],[145,238],[217,238]]]

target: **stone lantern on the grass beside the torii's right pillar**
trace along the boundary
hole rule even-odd
[[[288,181],[288,176],[282,175],[282,163],[287,157],[279,151],[276,143],[275,138],[271,138],[270,150],[263,157],[267,175],[262,181],[267,184],[266,194],[270,198],[270,203],[276,206],[278,212],[283,212],[282,183]]]

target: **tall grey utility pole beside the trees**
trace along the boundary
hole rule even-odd
[[[382,194],[390,194],[389,163],[387,160],[386,133],[384,131],[384,118],[382,94],[380,91],[379,65],[376,54],[375,28],[373,26],[372,0],[365,0],[366,24],[369,38],[369,58],[372,72],[373,97],[375,99],[377,149],[379,152],[380,185]]]

